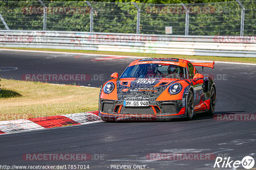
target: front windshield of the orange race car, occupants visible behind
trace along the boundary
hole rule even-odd
[[[160,77],[186,79],[186,68],[170,64],[138,64],[127,67],[120,78]]]

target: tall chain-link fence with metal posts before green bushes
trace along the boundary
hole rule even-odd
[[[3,30],[243,36],[256,35],[256,1],[209,4],[0,1],[0,19]]]

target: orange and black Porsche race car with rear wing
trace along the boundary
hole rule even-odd
[[[118,117],[186,117],[190,120],[195,113],[213,115],[214,81],[199,74],[194,66],[213,69],[214,62],[191,63],[174,58],[132,61],[119,78],[118,73],[113,73],[113,79],[100,89],[100,118],[109,122]]]

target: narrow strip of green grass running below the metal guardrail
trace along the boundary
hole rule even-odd
[[[109,51],[89,51],[89,50],[65,50],[65,49],[48,49],[48,48],[9,48],[20,50],[37,50],[37,51],[55,51],[55,52],[73,52],[73,53],[90,53],[90,54],[107,54],[107,55],[124,55],[137,57],[161,57],[161,58],[180,58],[187,60],[210,60],[210,61],[228,61],[241,63],[256,63],[256,58],[249,57],[215,57],[215,56],[198,56],[198,55],[167,55],[167,54],[148,54],[148,53],[127,53],[127,52],[109,52]]]

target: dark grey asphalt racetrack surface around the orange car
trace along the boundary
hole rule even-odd
[[[99,87],[113,72],[121,74],[133,58],[95,60],[99,56],[50,53],[0,52],[4,78],[20,80],[22,74],[104,74],[104,80],[76,82]],[[2,67],[2,68],[1,68]],[[18,67],[8,70],[3,67]],[[198,68],[201,72],[201,69]],[[215,114],[255,114],[256,66],[216,64],[204,69],[215,77]],[[224,76],[224,78],[223,78]],[[66,84],[73,82],[66,81]],[[0,165],[89,165],[111,169],[111,165],[146,165],[145,169],[232,169],[213,168],[215,160],[148,160],[149,153],[213,153],[216,156],[256,160],[255,121],[216,121],[204,114],[192,121],[173,119],[158,122],[86,124],[40,131],[0,135]],[[25,153],[104,154],[101,160],[25,161]],[[93,156],[94,157],[94,156]],[[97,157],[97,156],[96,156]],[[93,158],[95,159],[95,158]],[[231,164],[232,165],[232,164]],[[255,167],[255,166],[254,166]],[[112,168],[113,169],[113,168]],[[244,169],[241,165],[237,169]]]

